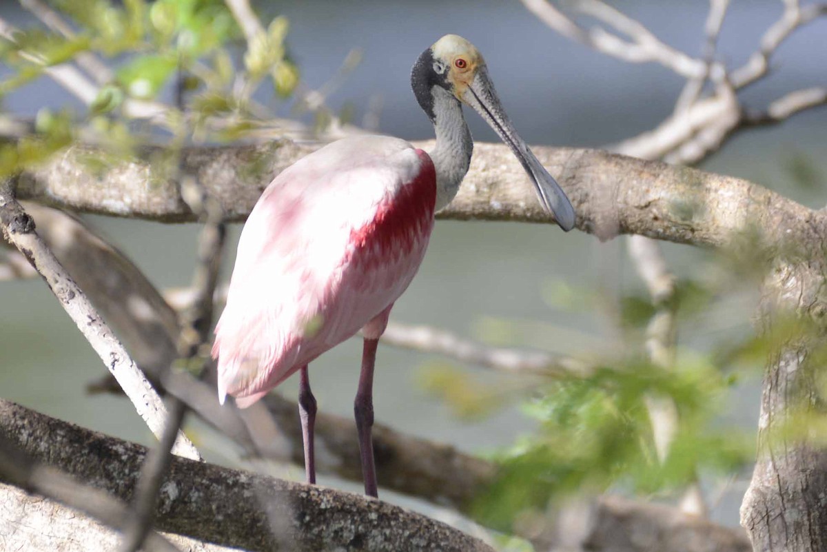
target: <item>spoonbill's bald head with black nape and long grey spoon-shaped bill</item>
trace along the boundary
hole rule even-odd
[[[446,35],[419,56],[411,71],[411,86],[419,105],[434,125],[438,104],[459,109],[459,103],[473,107],[509,145],[534,183],[540,202],[552,212],[557,224],[569,231],[575,212],[566,193],[543,167],[505,114],[480,51],[468,40]]]

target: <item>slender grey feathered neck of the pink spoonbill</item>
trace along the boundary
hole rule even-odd
[[[457,195],[462,178],[471,164],[474,142],[468,130],[459,100],[443,88],[435,87],[433,94],[433,130],[437,145],[428,152],[437,169],[436,210],[442,209]]]

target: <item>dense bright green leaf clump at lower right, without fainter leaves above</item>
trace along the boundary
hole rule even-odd
[[[543,509],[551,497],[618,486],[662,493],[691,483],[701,469],[738,469],[753,446],[743,435],[711,425],[713,405],[731,383],[708,364],[686,363],[667,373],[638,359],[548,384],[524,407],[538,430],[495,454],[499,478],[476,514],[508,528],[516,514]],[[671,398],[679,412],[662,461],[649,417],[652,397]]]

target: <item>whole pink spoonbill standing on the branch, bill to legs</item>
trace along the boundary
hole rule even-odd
[[[434,213],[456,196],[473,141],[462,104],[473,108],[514,152],[538,199],[569,231],[566,193],[519,137],[468,40],[442,36],[411,71],[436,145],[420,150],[390,136],[352,136],[304,156],[265,188],[245,226],[215,328],[218,397],[248,407],[299,372],[304,468],[315,483],[317,402],[308,364],[361,331],[354,416],[365,493],[377,497],[371,438],[376,349],[394,302],[423,261]]]

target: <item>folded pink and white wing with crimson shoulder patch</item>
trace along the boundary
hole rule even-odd
[[[359,136],[270,183],[238,243],[216,326],[219,397],[243,406],[390,310],[433,228],[433,163],[404,140]]]

